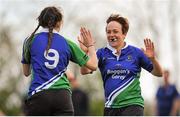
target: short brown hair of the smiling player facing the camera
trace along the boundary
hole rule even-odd
[[[119,14],[111,14],[108,19],[106,20],[106,23],[109,24],[111,21],[116,21],[122,26],[122,33],[127,34],[129,30],[129,22],[127,18],[121,17]],[[107,27],[106,27],[107,30]]]

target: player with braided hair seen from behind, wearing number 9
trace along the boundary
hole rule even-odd
[[[90,48],[87,54],[75,43],[58,32],[62,25],[60,9],[44,8],[38,17],[38,26],[24,41],[23,73],[31,74],[31,83],[25,101],[28,116],[72,116],[74,109],[71,88],[65,74],[69,61],[95,71],[97,57],[94,40],[87,30],[80,30]],[[41,26],[42,30],[37,33]]]

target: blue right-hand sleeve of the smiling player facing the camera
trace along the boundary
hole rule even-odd
[[[140,63],[140,67],[142,67],[143,69],[151,72],[153,70],[153,64],[150,61],[150,59],[144,54],[144,52],[140,49],[137,49],[137,53],[139,55],[139,63]]]

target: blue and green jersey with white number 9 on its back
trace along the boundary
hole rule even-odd
[[[48,30],[43,29],[40,33],[35,34],[31,41],[27,39],[24,41],[22,63],[32,63],[32,83],[29,96],[44,89],[66,88],[70,90],[69,81],[64,75],[69,60],[83,66],[89,59],[75,43],[64,38],[55,30],[51,48],[46,55],[47,35]]]

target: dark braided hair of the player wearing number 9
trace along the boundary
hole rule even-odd
[[[44,8],[41,11],[39,17],[37,18],[39,22],[38,26],[36,27],[34,32],[31,34],[29,39],[31,40],[34,37],[34,34],[36,33],[36,31],[38,30],[40,26],[42,26],[43,28],[48,28],[49,33],[48,33],[48,45],[46,47],[46,54],[48,53],[48,50],[52,43],[53,28],[56,26],[57,22],[62,21],[62,18],[63,18],[63,15],[61,11],[54,6]]]

